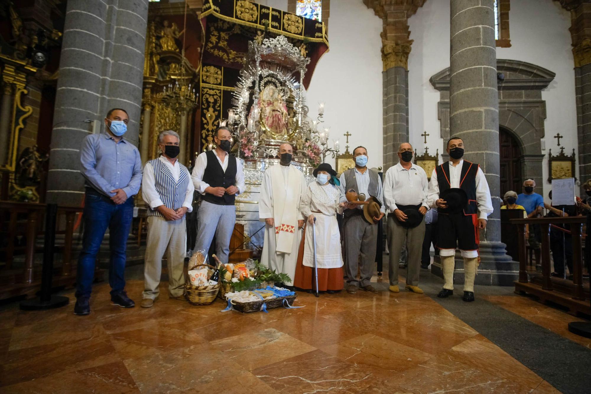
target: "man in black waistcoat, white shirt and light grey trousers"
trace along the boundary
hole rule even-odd
[[[209,250],[216,237],[216,255],[228,262],[230,238],[236,223],[236,195],[243,193],[244,170],[242,162],[230,155],[230,130],[217,128],[213,137],[216,148],[203,152],[196,161],[191,179],[195,190],[203,195],[199,207],[195,250]]]

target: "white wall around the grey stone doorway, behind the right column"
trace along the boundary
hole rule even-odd
[[[449,66],[450,8],[448,1],[427,1],[409,19],[410,38],[414,40],[408,59],[409,130],[410,142],[423,154],[423,131],[430,133],[430,151],[439,148],[442,139],[437,119],[439,92],[431,86],[433,74]],[[331,22],[332,24],[332,22]],[[331,25],[332,27],[332,25]],[[554,81],[542,92],[546,102],[545,147],[557,153],[557,132],[564,136],[561,145],[570,154],[577,148],[577,118],[574,90],[574,63],[571,53],[570,15],[558,2],[551,0],[511,1],[509,29],[511,47],[497,48],[497,57],[527,61],[556,73]],[[548,178],[547,158],[544,158],[544,180]],[[578,172],[578,168],[577,168]],[[578,174],[577,174],[578,175]],[[544,197],[550,191],[544,181]]]

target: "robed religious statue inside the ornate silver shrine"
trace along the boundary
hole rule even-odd
[[[262,90],[258,108],[261,129],[272,136],[281,136],[287,133],[289,117],[287,106],[281,94],[281,89],[274,83],[267,83]]]

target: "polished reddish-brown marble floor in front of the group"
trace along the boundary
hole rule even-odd
[[[129,271],[128,294],[139,304],[141,271]],[[5,304],[0,392],[559,392],[436,302],[441,279],[421,275],[424,295],[391,293],[387,277],[375,276],[377,295],[298,293],[296,305],[304,308],[268,314],[220,312],[219,299],[191,306],[163,297],[165,285],[153,308],[123,309],[109,304],[105,282],[95,285],[87,317],[73,315],[73,291],[64,292],[72,303],[58,310]],[[476,294],[473,304],[500,305],[591,346],[564,328],[573,320],[564,312],[510,288]]]

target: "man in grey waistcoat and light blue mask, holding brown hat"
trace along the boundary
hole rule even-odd
[[[353,149],[355,168],[343,171],[340,175],[340,202],[346,202],[345,194],[353,189],[358,194],[365,194],[378,199],[381,206],[379,217],[374,217],[369,223],[363,217],[362,206],[347,204],[344,212],[343,233],[345,236],[345,271],[347,274],[347,292],[355,294],[358,287],[376,294],[378,291],[370,284],[374,273],[376,246],[378,243],[378,226],[384,217],[386,208],[382,199],[382,180],[377,174],[367,168],[368,152],[363,146]],[[356,278],[358,256],[361,253],[361,269],[359,280]],[[381,251],[380,251],[381,253]]]

